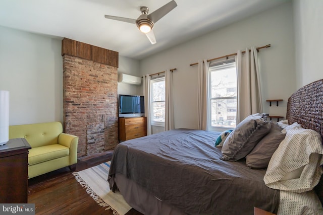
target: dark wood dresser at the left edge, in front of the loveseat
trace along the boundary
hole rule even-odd
[[[28,203],[28,153],[25,138],[0,146],[0,203]]]

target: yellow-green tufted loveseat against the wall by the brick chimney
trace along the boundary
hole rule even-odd
[[[29,142],[29,178],[67,166],[75,170],[78,137],[63,133],[61,122],[12,125],[9,138],[25,138]]]

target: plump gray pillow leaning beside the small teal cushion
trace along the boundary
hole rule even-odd
[[[246,157],[270,128],[271,124],[266,121],[265,114],[256,113],[248,116],[224,141],[221,160],[238,161]]]

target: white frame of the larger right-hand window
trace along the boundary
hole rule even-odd
[[[207,124],[208,124],[208,130],[211,131],[224,131],[227,129],[234,129],[234,127],[229,127],[229,126],[214,126],[212,125],[212,117],[211,117],[211,108],[212,108],[212,101],[215,100],[223,100],[223,99],[236,99],[236,103],[237,103],[237,107],[236,107],[236,126],[237,126],[237,110],[238,110],[238,95],[237,96],[227,96],[227,97],[211,97],[211,92],[212,92],[212,86],[211,86],[211,81],[212,81],[212,73],[216,70],[212,70],[211,67],[214,66],[220,66],[220,65],[224,65],[222,66],[222,68],[219,68],[218,70],[222,70],[222,69],[227,69],[227,68],[236,68],[236,63],[235,63],[235,59],[229,59],[229,60],[225,60],[225,61],[221,61],[221,62],[216,62],[216,63],[210,63],[209,65],[209,70],[208,70],[208,89],[207,89]],[[237,77],[237,74],[236,74]],[[238,79],[238,77],[237,77]],[[236,85],[237,86],[237,85]],[[238,89],[238,86],[237,86]],[[221,106],[221,105],[220,105]],[[219,106],[219,107],[220,107]],[[222,106],[221,106],[222,107]],[[228,107],[226,107],[226,109],[228,109]],[[230,108],[231,109],[231,108]],[[228,111],[227,111],[228,112]],[[232,111],[230,111],[232,112]]]

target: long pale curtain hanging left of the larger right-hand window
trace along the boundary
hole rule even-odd
[[[200,130],[208,129],[208,123],[207,123],[208,66],[209,66],[209,62],[207,62],[206,59],[198,61],[197,123],[198,123],[198,129]]]

